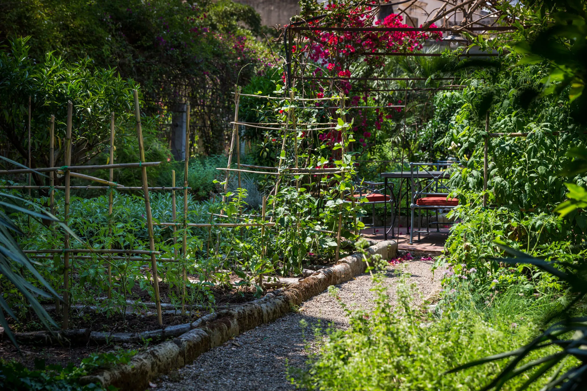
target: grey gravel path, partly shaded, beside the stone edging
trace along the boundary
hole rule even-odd
[[[440,288],[440,278],[433,278],[430,271],[432,264],[433,261],[415,259],[402,265],[411,274],[409,281],[417,284],[422,297],[429,297]],[[398,275],[393,268],[386,272],[384,283],[390,286],[392,300]],[[339,295],[347,304],[355,303],[370,310],[373,308],[371,286],[369,274],[362,274],[355,280],[338,285]],[[420,303],[421,298],[417,297],[414,301]],[[300,308],[299,312],[291,312],[275,322],[244,332],[199,356],[192,365],[163,376],[157,380],[157,389],[294,390],[295,386],[286,379],[286,365],[303,368],[307,358],[304,346],[312,343],[315,325],[326,327],[332,323],[339,328],[348,326],[344,311],[335,298],[328,295],[328,291],[303,302]],[[308,323],[305,330],[300,325],[301,319]],[[314,342],[312,345],[317,344]]]

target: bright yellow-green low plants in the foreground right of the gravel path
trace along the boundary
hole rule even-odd
[[[458,292],[447,292],[450,300],[426,311],[411,302],[417,293],[407,284],[406,274],[400,277],[397,305],[392,307],[382,276],[373,280],[375,310],[349,307],[339,298],[350,326],[347,330],[326,329],[328,338],[319,353],[311,356],[309,371],[301,376],[292,373],[299,385],[312,390],[476,390],[505,368],[507,360],[451,375],[443,372],[524,344],[537,335],[544,314],[560,307],[548,296],[519,295],[516,287],[500,293],[469,293],[471,287],[464,282]],[[330,292],[338,296],[336,288]],[[321,338],[323,331],[316,331]],[[552,346],[545,350],[557,351]],[[533,352],[522,363],[538,357]],[[566,362],[565,368],[573,363],[576,360]],[[525,380],[512,379],[504,389],[516,390]],[[538,390],[544,383],[531,389]]]

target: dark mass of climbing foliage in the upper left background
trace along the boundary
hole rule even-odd
[[[132,78],[149,114],[166,115],[190,100],[206,153],[224,147],[237,80],[245,84],[276,63],[255,39],[259,15],[230,0],[30,0],[9,2],[2,11],[0,42],[31,35],[34,59],[56,50],[67,62],[89,58]]]

